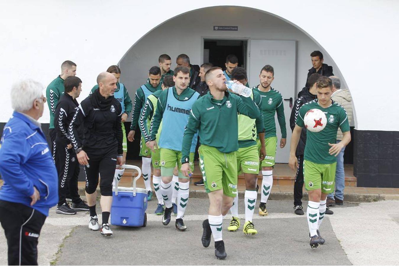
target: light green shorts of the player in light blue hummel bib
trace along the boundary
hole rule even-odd
[[[179,170],[179,178],[188,179],[190,177],[186,177],[180,171],[182,168],[182,152],[176,150],[170,150],[161,148],[161,175],[162,176],[173,176],[173,169],[176,167]],[[194,171],[194,152],[190,152],[190,169],[191,172]]]

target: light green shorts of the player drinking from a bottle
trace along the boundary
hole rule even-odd
[[[223,189],[224,195],[237,196],[236,152],[226,154],[206,145],[199,146],[198,152],[205,191]]]

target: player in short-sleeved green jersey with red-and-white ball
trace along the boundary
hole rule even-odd
[[[344,107],[331,100],[332,81],[329,77],[320,77],[316,81],[317,99],[299,109],[299,116],[291,137],[289,166],[298,167],[295,157],[300,132],[304,126],[304,116],[310,109],[320,109],[326,114],[327,124],[320,132],[308,130],[304,152],[303,176],[309,194],[306,218],[310,231],[310,246],[317,248],[325,240],[320,236],[319,227],[326,212],[326,198],[334,189],[335,169],[338,154],[351,140],[348,116]],[[338,127],[342,130],[342,141],[336,144]]]

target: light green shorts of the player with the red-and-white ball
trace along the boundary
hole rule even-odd
[[[303,178],[306,190],[322,189],[322,193],[334,192],[335,169],[337,163],[316,164],[303,161]]]

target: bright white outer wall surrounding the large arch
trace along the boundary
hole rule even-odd
[[[97,74],[117,63],[151,29],[184,12],[225,5],[264,10],[312,36],[334,59],[351,89],[357,128],[399,130],[395,76],[399,1],[389,0],[337,0],[334,4],[314,0],[2,1],[0,122],[6,122],[12,112],[7,91],[17,79],[31,77],[47,85],[59,74],[61,62],[69,59],[78,64],[77,75],[87,95]],[[191,56],[199,61],[198,54]],[[381,111],[394,114],[394,119]],[[40,121],[48,122],[48,117],[46,110]]]

